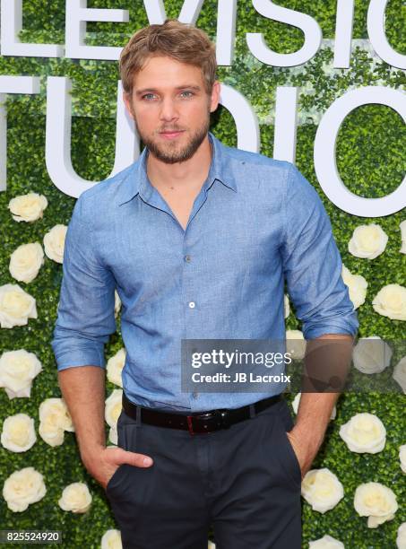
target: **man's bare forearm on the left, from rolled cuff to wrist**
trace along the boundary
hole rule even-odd
[[[105,376],[105,370],[99,366],[77,366],[58,372],[83,461],[106,446]]]

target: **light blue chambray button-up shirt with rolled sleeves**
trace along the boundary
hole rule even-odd
[[[283,390],[186,393],[180,379],[182,339],[284,339],[284,278],[306,339],[357,333],[315,188],[288,161],[209,138],[212,164],[186,231],[146,175],[146,148],[77,199],[51,343],[58,370],[105,367],[115,289],[125,394],[162,410],[237,408]]]

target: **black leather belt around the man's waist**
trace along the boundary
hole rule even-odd
[[[255,402],[255,414],[262,412],[269,406],[272,406],[281,400],[281,395],[270,396]],[[137,408],[141,410],[142,423],[158,425],[159,427],[168,427],[169,429],[184,429],[190,434],[219,431],[227,429],[230,425],[242,422],[250,417],[250,405],[241,408],[222,408],[219,410],[210,410],[208,412],[197,412],[191,415],[170,414],[167,412],[158,412],[151,408],[135,405],[128,400],[123,392],[123,408],[125,414],[137,419]]]

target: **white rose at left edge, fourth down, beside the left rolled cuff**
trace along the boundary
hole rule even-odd
[[[34,353],[25,349],[5,351],[0,356],[0,387],[9,398],[30,396],[32,379],[42,370],[42,364]]]

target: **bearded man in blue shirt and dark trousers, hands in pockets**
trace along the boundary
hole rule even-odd
[[[337,394],[303,394],[293,426],[281,384],[184,392],[181,341],[283,340],[285,277],[307,339],[352,342],[358,320],[330,222],[291,163],[209,133],[220,83],[203,31],[140,30],[120,72],[145,148],[74,206],[52,341],[82,461],[107,490],[124,547],[200,549],[212,525],[218,549],[298,548],[301,479]],[[115,288],[124,411],[118,448],[106,448]]]

